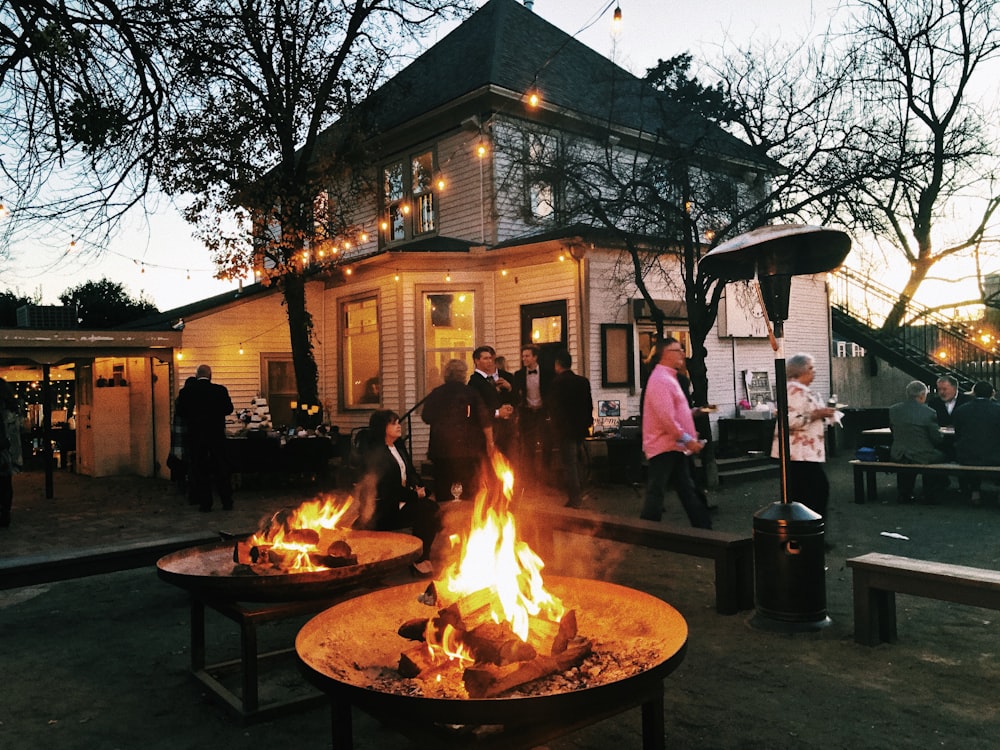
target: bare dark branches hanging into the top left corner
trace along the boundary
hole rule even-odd
[[[165,100],[156,6],[0,5],[0,253],[25,237],[95,247],[150,189]]]

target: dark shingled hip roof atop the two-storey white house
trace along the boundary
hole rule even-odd
[[[515,98],[537,90],[547,105],[609,126],[776,166],[517,0],[490,0],[375,91],[360,109],[369,118],[368,126],[384,133],[491,87]]]

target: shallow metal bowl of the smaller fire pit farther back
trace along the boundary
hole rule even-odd
[[[409,534],[352,531],[347,536],[357,565],[263,575],[233,562],[234,542],[207,544],[161,557],[161,579],[200,596],[241,602],[285,602],[328,598],[348,586],[404,568],[420,557],[421,541]]]

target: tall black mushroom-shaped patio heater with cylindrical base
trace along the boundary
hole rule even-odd
[[[778,632],[819,630],[826,613],[824,519],[788,500],[788,391],[784,322],[792,276],[824,273],[839,266],[851,249],[846,232],[798,224],[760,227],[708,252],[699,270],[721,283],[756,285],[771,323],[778,397],[781,499],[754,514],[753,627]]]

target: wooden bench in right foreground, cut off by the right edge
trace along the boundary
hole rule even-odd
[[[894,643],[896,594],[925,596],[1000,609],[1000,571],[871,552],[852,557],[854,640],[864,646]]]

